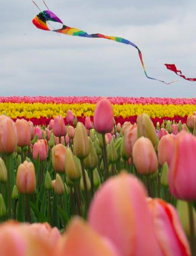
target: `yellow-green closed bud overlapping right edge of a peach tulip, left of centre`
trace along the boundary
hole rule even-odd
[[[79,164],[76,166],[75,161],[72,150],[68,147],[65,157],[65,172],[70,181],[77,181],[81,177]]]

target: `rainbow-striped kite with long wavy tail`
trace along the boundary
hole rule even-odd
[[[54,21],[54,22],[61,23],[62,28],[51,30],[48,28],[48,26],[46,24],[47,21]],[[82,31],[80,29],[68,27],[68,26],[64,25],[62,23],[62,21],[52,11],[49,11],[49,10],[40,12],[36,17],[34,17],[32,22],[37,28],[43,29],[46,31],[54,31],[54,32],[58,32],[58,33],[66,34],[66,35],[82,36],[82,37],[86,37],[86,38],[105,38],[105,39],[114,40],[119,43],[130,44],[131,46],[135,47],[138,50],[140,62],[142,64],[144,73],[147,78],[152,79],[152,80],[157,80],[157,81],[160,81],[165,84],[171,84],[173,82],[176,82],[176,81],[172,81],[170,83],[166,83],[162,80],[148,76],[146,73],[146,68],[145,68],[143,59],[142,59],[142,52],[139,50],[139,48],[134,43],[130,42],[129,40],[126,40],[126,39],[120,38],[120,37],[116,37],[116,36],[106,36],[106,35],[102,35],[102,34],[87,34],[85,31]]]

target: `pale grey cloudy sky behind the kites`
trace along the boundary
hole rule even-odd
[[[37,29],[32,19],[39,10],[31,0],[0,4],[1,96],[196,97],[196,82],[163,65],[175,63],[196,77],[195,0],[46,0],[65,25],[135,43],[147,74],[179,80],[170,85],[146,78],[132,46]]]

